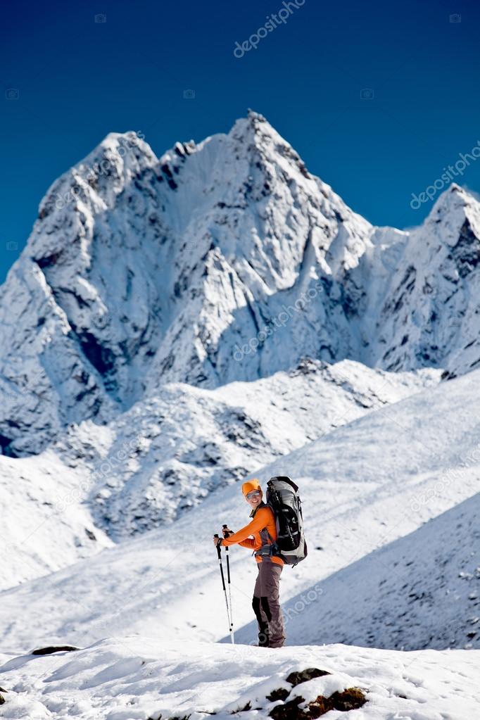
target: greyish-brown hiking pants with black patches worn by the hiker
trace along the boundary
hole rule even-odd
[[[258,621],[258,644],[282,647],[285,641],[284,616],[279,600],[279,582],[283,565],[264,557],[258,563],[252,606]]]

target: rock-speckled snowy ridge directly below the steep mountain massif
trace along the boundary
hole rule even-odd
[[[38,456],[0,456],[0,588],[169,523],[215,487],[438,378],[304,361],[217,390],[167,384],[107,426],[71,426]]]

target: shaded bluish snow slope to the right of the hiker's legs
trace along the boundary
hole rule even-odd
[[[327,577],[302,612],[292,598],[289,633],[298,644],[480,649],[479,517],[480,492]]]

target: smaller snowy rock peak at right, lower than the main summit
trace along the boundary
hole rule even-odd
[[[367,298],[363,360],[389,370],[441,367],[447,377],[477,367],[479,268],[480,202],[453,183],[422,225],[367,252],[350,279],[350,292]]]

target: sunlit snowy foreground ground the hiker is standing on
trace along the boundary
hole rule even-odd
[[[0,666],[8,690],[0,717],[30,720],[268,719],[286,702],[357,687],[363,707],[326,717],[357,720],[474,720],[480,707],[480,652],[394,652],[327,645],[265,649],[201,642],[168,644],[118,637],[71,653],[12,657]],[[330,675],[294,687],[291,672]],[[245,709],[251,708],[250,710]]]

